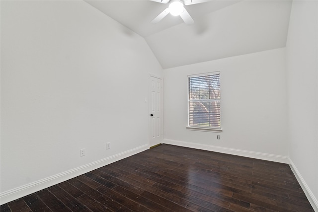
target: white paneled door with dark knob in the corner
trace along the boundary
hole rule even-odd
[[[149,82],[149,147],[162,142],[163,92],[162,79],[150,76]]]

